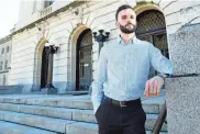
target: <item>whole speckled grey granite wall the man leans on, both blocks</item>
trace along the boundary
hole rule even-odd
[[[174,78],[166,79],[168,134],[200,134],[200,24],[169,35]]]

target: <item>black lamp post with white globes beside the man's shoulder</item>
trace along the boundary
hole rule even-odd
[[[93,32],[93,37],[96,42],[99,43],[99,52],[101,51],[101,47],[103,46],[103,43],[109,38],[110,30],[104,29],[102,25],[99,26],[98,32]]]

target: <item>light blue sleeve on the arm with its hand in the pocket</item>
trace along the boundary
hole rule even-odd
[[[98,59],[97,70],[95,71],[95,79],[92,82],[91,101],[93,105],[93,112],[96,113],[103,97],[103,82],[107,79],[107,66],[108,62],[105,58],[104,47],[101,48],[100,56]]]

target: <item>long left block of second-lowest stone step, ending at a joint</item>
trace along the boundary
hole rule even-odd
[[[0,111],[0,120],[59,133],[66,133],[67,125],[76,122],[9,111]]]

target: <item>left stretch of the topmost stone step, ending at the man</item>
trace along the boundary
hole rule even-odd
[[[0,103],[92,109],[90,96],[2,96]]]

